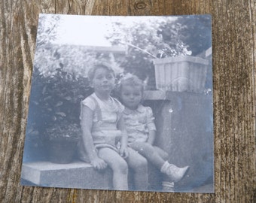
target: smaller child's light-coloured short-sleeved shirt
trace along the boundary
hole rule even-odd
[[[146,142],[148,140],[148,132],[156,130],[153,112],[150,107],[139,105],[136,110],[125,108],[123,120],[128,133],[128,143],[135,141]]]

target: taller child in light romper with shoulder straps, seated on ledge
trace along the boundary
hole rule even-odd
[[[88,78],[94,92],[81,102],[80,158],[98,170],[108,165],[113,171],[114,189],[122,190],[128,189],[128,163],[134,171],[136,189],[145,190],[148,186],[147,160],[127,147],[124,107],[110,96],[114,89],[114,71],[109,65],[96,64],[88,72]]]

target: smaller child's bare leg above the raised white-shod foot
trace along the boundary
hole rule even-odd
[[[139,152],[142,156],[148,159],[149,162],[154,164],[157,168],[161,168],[165,160],[157,153],[157,150],[151,144],[146,142],[134,142],[130,144],[133,150]]]

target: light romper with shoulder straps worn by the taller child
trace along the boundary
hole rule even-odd
[[[111,106],[104,106],[105,103],[93,93],[81,102],[81,109],[83,106],[87,106],[93,111],[91,134],[96,150],[102,147],[109,147],[118,152],[117,144],[120,141],[121,132],[117,129],[117,122],[120,119],[124,107],[116,98],[110,97],[110,99]],[[92,105],[94,105],[95,108],[93,108]],[[78,144],[78,152],[81,160],[90,162],[82,141]]]

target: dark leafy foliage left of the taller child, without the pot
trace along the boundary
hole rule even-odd
[[[63,68],[44,76],[34,67],[26,127],[26,161],[46,159],[44,141],[48,139],[78,137],[80,102],[91,92],[85,77]]]

